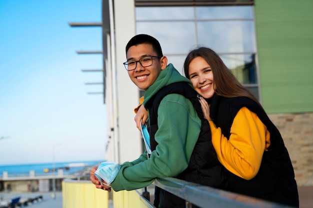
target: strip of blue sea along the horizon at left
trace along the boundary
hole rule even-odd
[[[63,171],[63,175],[80,175],[90,168],[97,166],[102,161],[79,161],[79,162],[62,162],[55,163],[55,172],[59,169]],[[20,164],[20,165],[4,165],[0,166],[0,177],[6,171],[9,177],[29,176],[30,171],[34,171],[35,176],[52,175],[52,163],[37,163],[37,164]]]

